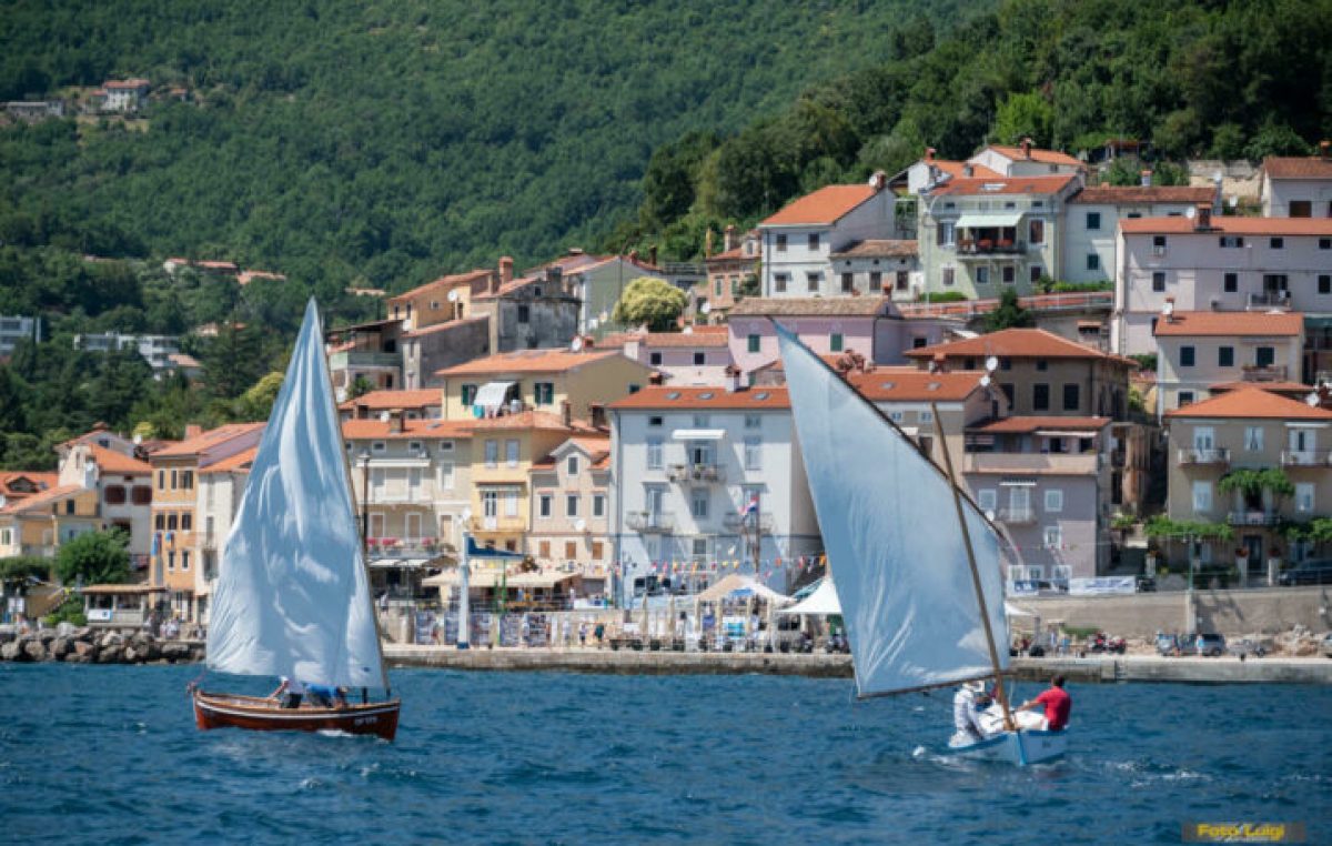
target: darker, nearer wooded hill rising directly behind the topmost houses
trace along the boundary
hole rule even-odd
[[[658,148],[638,220],[607,242],[697,254],[709,228],[896,173],[926,147],[963,159],[1023,136],[1070,152],[1128,137],[1176,163],[1308,155],[1332,137],[1329,45],[1332,0],[1004,0],[739,133]]]

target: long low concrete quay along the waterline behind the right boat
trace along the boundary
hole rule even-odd
[[[603,673],[609,675],[806,675],[851,678],[850,655],[782,653],[679,653],[610,649],[469,649],[386,643],[396,667],[526,673]],[[1015,658],[1019,681],[1048,681],[1063,673],[1071,682],[1332,683],[1328,658]]]

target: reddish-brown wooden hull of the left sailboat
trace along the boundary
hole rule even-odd
[[[401,699],[346,707],[278,707],[272,699],[225,693],[193,694],[194,723],[200,730],[345,731],[392,741],[398,731]]]

